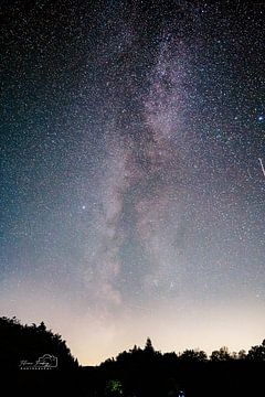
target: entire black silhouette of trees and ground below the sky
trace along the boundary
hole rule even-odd
[[[200,350],[162,354],[148,337],[144,348],[135,345],[89,367],[80,366],[43,322],[22,325],[17,318],[0,318],[0,368],[10,396],[265,396],[265,340],[248,352],[221,347],[208,357]],[[12,384],[3,376],[8,372]]]

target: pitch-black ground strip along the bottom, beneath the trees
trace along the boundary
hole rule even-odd
[[[73,371],[17,371],[3,376],[9,396],[265,396],[265,363],[176,363]],[[11,382],[10,382],[11,380]]]

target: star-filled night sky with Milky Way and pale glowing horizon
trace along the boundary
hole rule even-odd
[[[1,1],[0,312],[82,364],[265,337],[263,2]]]

